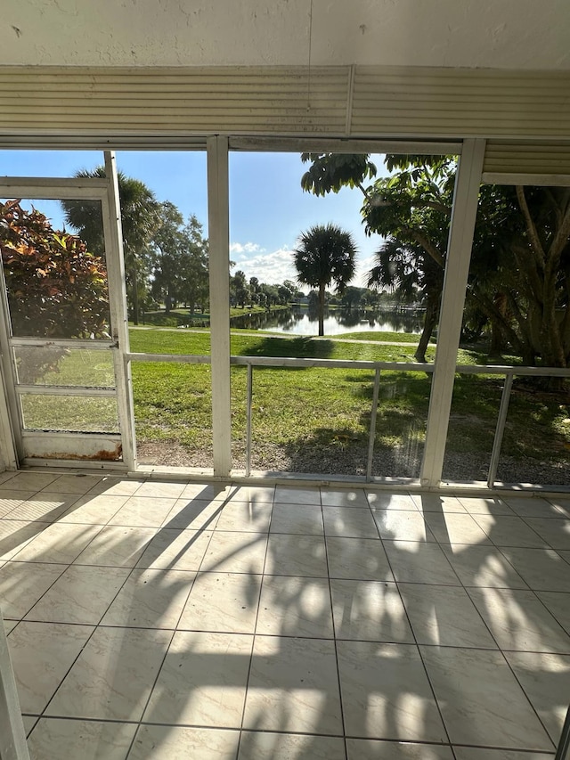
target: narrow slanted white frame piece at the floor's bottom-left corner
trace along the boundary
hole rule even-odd
[[[18,691],[12,671],[4,618],[0,610],[0,757],[2,760],[29,760]]]

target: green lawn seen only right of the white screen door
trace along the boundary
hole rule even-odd
[[[392,333],[398,335],[399,333]],[[343,336],[345,337],[345,336]],[[208,355],[209,335],[195,331],[132,331],[132,350],[173,354]],[[343,342],[342,339],[283,338],[263,333],[232,331],[232,355],[295,356],[379,362],[415,362],[415,339],[410,347],[382,345],[375,341]],[[436,347],[428,347],[433,362]],[[485,364],[485,353],[461,349],[458,364]],[[496,364],[514,364],[502,357]],[[174,365],[176,367],[177,365]],[[168,436],[191,447],[210,445],[209,367],[185,365],[183,383],[173,392],[167,375],[178,371],[172,364],[139,364],[134,383],[137,432],[152,440]],[[164,386],[160,378],[164,375]],[[254,448],[280,446],[288,451],[310,442],[323,451],[360,446],[368,441],[374,373],[325,368],[256,368],[253,390]],[[456,452],[490,452],[501,400],[501,376],[457,375],[452,403],[448,446]],[[410,447],[425,439],[431,375],[426,372],[382,372],[380,376],[376,445]],[[518,400],[515,385],[505,434],[509,453],[566,457],[570,433],[563,423],[568,411],[556,396],[546,394],[534,411],[540,422],[529,427],[528,404]],[[186,398],[182,406],[178,401]],[[162,398],[159,407],[157,399]],[[166,406],[166,408],[165,408]],[[152,421],[160,417],[160,421]],[[167,423],[166,423],[167,421]],[[234,452],[244,445],[246,429],[246,370],[232,367],[232,439]]]

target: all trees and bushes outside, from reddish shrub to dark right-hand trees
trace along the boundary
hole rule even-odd
[[[309,164],[301,179],[306,192],[326,195],[346,186],[362,192],[366,233],[378,234],[381,239],[368,275],[368,288],[388,291],[403,301],[421,299],[426,311],[416,358],[425,361],[429,338],[439,320],[456,159],[387,155],[389,176],[379,179],[367,154],[304,153],[302,159]],[[82,170],[76,176],[104,176],[104,169]],[[164,304],[167,312],[178,305],[188,306],[191,314],[197,308],[205,311],[209,294],[208,240],[198,219],[184,219],[172,202],[157,200],[145,184],[121,172],[118,184],[127,299],[134,323],[138,322],[141,308],[148,310],[158,304]],[[63,270],[65,276],[71,273],[76,285],[85,282],[85,298],[91,293],[99,305],[103,290],[101,205],[92,200],[65,200],[62,206],[66,225],[75,234],[53,230],[43,215],[35,209],[25,211],[17,200],[4,204],[0,218],[11,308],[33,329],[40,320],[32,315],[36,306],[31,303],[30,293],[38,290],[38,314],[51,325],[51,334],[58,329],[58,320],[72,322],[63,317],[72,303],[66,300],[61,286]],[[463,338],[488,339],[492,354],[516,354],[523,364],[567,367],[569,235],[570,188],[482,186]],[[32,240],[34,250],[31,243],[25,242]],[[323,308],[331,285],[345,306],[356,303],[354,289],[348,290],[354,278],[355,256],[350,233],[334,224],[315,225],[299,235],[293,252],[297,282],[267,284],[257,277],[248,280],[238,270],[229,274],[232,305],[271,308],[287,304],[302,297],[298,284],[305,284],[314,289],[312,299],[317,301],[322,334]],[[92,273],[91,279],[76,276],[76,270]],[[31,290],[20,283],[25,276],[32,278]],[[30,317],[21,307],[24,290]],[[78,304],[77,292],[73,298]],[[361,293],[360,303],[366,298]],[[57,319],[45,311],[50,304],[54,305]],[[84,306],[80,308],[85,315]],[[100,307],[94,306],[94,319],[77,330],[82,335],[101,332],[100,312]]]

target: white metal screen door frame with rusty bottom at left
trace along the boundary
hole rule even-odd
[[[135,469],[134,453],[134,412],[133,393],[130,381],[130,366],[125,360],[129,351],[128,321],[126,313],[125,266],[123,261],[122,232],[120,225],[120,206],[118,200],[118,178],[115,154],[105,151],[104,178],[52,178],[52,177],[3,177],[0,179],[0,197],[30,198],[37,200],[98,200],[102,206],[103,236],[105,241],[105,259],[107,266],[107,281],[109,288],[110,306],[110,340],[81,340],[81,339],[37,339],[14,338],[12,336],[9,318],[8,299],[4,283],[4,271],[1,270],[2,288],[0,302],[4,316],[4,329],[0,330],[0,347],[2,350],[2,380],[6,403],[0,405],[0,425],[4,432],[4,459],[8,468],[14,469],[19,464],[49,467],[81,467],[86,469]],[[1,269],[1,268],[0,268]],[[118,404],[119,433],[96,434],[80,432],[42,432],[26,431],[23,428],[19,395],[28,386],[19,384],[16,367],[13,360],[13,347],[46,346],[53,347],[89,347],[94,350],[111,350],[115,372],[115,388],[98,390],[88,387],[34,387],[34,392],[46,395],[70,396],[116,396]],[[45,438],[49,450],[51,442],[58,440],[69,446],[69,459],[43,458],[40,455],[27,457],[25,439]],[[120,442],[122,446],[122,461],[107,461],[104,459],[77,459],[77,448],[71,446],[80,440],[89,440],[94,445],[97,442],[109,444]],[[38,447],[41,452],[41,445]]]

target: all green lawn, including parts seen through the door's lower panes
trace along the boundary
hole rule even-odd
[[[366,339],[360,336],[366,335]],[[388,333],[402,338],[402,333]],[[356,336],[356,337],[354,337]],[[371,340],[369,333],[353,333],[343,339],[272,337],[266,333],[243,334],[232,331],[232,355],[297,356],[306,358],[360,359],[371,361],[414,361],[415,338],[409,347]],[[411,336],[408,336],[410,338]],[[402,341],[404,342],[404,341]],[[132,330],[131,350],[143,353],[209,355],[207,331]],[[428,348],[433,361],[435,347]],[[459,364],[485,364],[483,350],[461,349]],[[81,384],[86,372],[110,375],[110,363],[103,352],[74,349],[65,356],[57,384]],[[102,363],[102,364],[101,364]],[[502,357],[499,364],[515,364],[514,357]],[[134,363],[134,413],[137,440],[157,445],[181,446],[192,457],[212,450],[211,368],[208,364]],[[243,464],[246,429],[246,369],[232,367],[232,446],[235,466]],[[101,380],[98,380],[101,382]],[[358,369],[257,368],[253,389],[253,449],[259,467],[284,457],[291,469],[303,470],[314,462],[350,462],[349,471],[362,471],[371,417],[374,374]],[[426,372],[382,372],[376,446],[381,453],[396,452],[399,462],[412,467],[425,437],[431,376]],[[458,375],[452,398],[448,450],[456,454],[489,454],[501,402],[502,378],[492,375]],[[61,399],[61,400],[60,400]],[[86,429],[112,429],[112,399],[85,399],[85,404],[69,404],[63,396],[35,396],[26,404],[29,427],[77,429],[85,420]],[[91,405],[86,404],[90,402]],[[102,403],[103,402],[103,403]],[[97,411],[98,410],[98,411]],[[570,413],[567,394],[553,394],[515,380],[503,451],[515,457],[533,457],[566,462],[570,446]],[[31,423],[29,422],[31,421]],[[49,423],[49,424],[48,424]],[[97,425],[100,428],[97,428]],[[73,428],[73,426],[75,426]],[[311,454],[312,453],[312,454]],[[308,457],[308,460],[307,460]],[[407,459],[406,459],[407,458]],[[408,464],[406,465],[406,462]],[[206,463],[206,462],[205,462]],[[308,466],[308,465],[307,465]],[[417,474],[414,470],[413,474]],[[315,470],[316,471],[316,470]],[[402,474],[402,473],[389,473]]]

